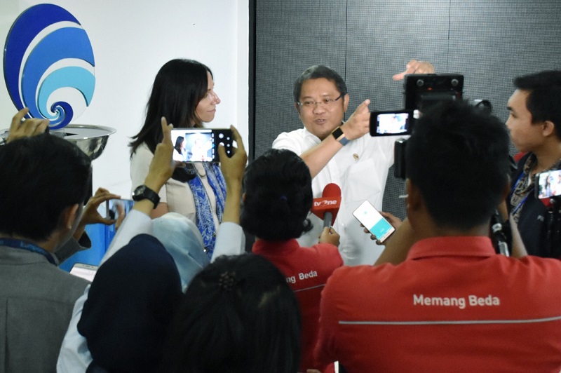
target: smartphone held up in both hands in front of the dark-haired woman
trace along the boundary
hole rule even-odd
[[[219,162],[218,145],[226,155],[234,151],[234,136],[229,128],[177,128],[171,131],[173,159],[181,162]]]

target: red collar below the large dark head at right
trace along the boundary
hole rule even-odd
[[[496,255],[496,252],[489,237],[433,237],[415,243],[407,254],[407,260],[425,257],[490,257],[492,255]]]

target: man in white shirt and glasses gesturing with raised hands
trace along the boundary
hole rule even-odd
[[[432,72],[430,63],[412,60],[406,71],[393,79]],[[343,122],[349,93],[342,77],[329,67],[306,69],[295,81],[294,97],[304,128],[281,133],[273,148],[294,151],[304,159],[313,178],[314,198],[322,195],[327,184],[341,188],[341,206],[333,224],[341,236],[339,252],[346,265],[373,264],[384,247],[373,247],[353,211],[365,200],[381,210],[396,138],[370,137],[370,100],[358,105],[349,120]],[[302,246],[317,243],[322,230],[318,217],[310,215],[310,219],[313,229],[299,238]]]

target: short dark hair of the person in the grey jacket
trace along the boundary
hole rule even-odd
[[[86,199],[91,161],[60,137],[24,137],[0,147],[0,175],[0,232],[46,240],[62,210]]]

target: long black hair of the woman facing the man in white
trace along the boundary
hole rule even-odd
[[[156,151],[163,138],[162,116],[174,128],[203,126],[196,107],[208,91],[207,72],[212,76],[207,66],[194,60],[171,60],[161,67],[154,79],[144,126],[129,143],[131,156],[144,142],[152,153]]]

